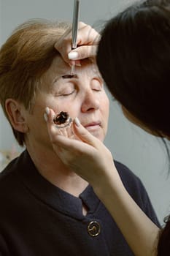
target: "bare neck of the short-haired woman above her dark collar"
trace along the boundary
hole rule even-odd
[[[51,184],[63,189],[75,197],[88,186],[88,182],[69,170],[51,148],[30,150],[27,148],[36,169]]]

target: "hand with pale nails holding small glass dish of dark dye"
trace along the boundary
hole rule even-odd
[[[66,130],[57,129],[53,123],[55,113],[48,109],[47,129],[53,149],[61,161],[79,176],[88,181],[93,189],[103,186],[104,180],[114,176],[115,165],[109,149],[82,127],[75,118],[72,124],[74,135],[66,136]],[[117,173],[117,171],[116,171]]]

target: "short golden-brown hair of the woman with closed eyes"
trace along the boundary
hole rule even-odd
[[[23,103],[28,110],[31,108],[40,78],[59,54],[54,48],[55,42],[69,27],[68,22],[28,20],[18,26],[1,47],[0,102],[5,116],[5,101],[9,98]],[[20,146],[23,146],[24,134],[13,127],[12,130]]]

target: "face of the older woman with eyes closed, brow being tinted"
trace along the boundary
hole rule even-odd
[[[32,132],[34,140],[42,140],[42,136],[47,138],[43,119],[46,107],[53,108],[55,113],[66,111],[72,118],[78,117],[91,134],[101,141],[104,140],[109,99],[96,66],[86,59],[82,61],[81,67],[75,68],[76,75],[70,74],[71,67],[57,56],[43,76],[41,89],[36,95],[33,112],[28,120],[30,135]]]

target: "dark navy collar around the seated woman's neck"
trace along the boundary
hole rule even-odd
[[[88,214],[93,214],[98,208],[100,200],[93,192],[93,188],[88,185],[79,197],[69,194],[62,189],[55,187],[47,181],[36,170],[34,162],[32,162],[28,151],[18,157],[15,164],[17,165],[17,173],[23,186],[42,203],[50,206],[62,214],[69,215],[76,219],[84,219],[82,215],[82,202],[88,208]]]

